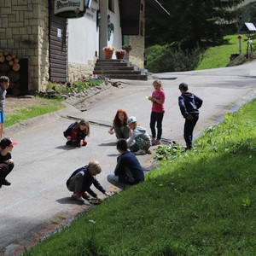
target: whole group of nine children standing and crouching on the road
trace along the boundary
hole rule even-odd
[[[113,174],[108,174],[107,178],[109,183],[113,183],[113,185],[120,189],[144,181],[143,168],[137,160],[136,154],[151,154],[150,146],[160,144],[166,94],[159,80],[155,80],[153,86],[154,91],[152,96],[147,97],[152,102],[150,115],[152,138],[150,139],[145,128],[137,125],[136,117],[131,116],[128,118],[124,109],[117,111],[113,119],[113,125],[108,131],[109,134],[115,133],[118,139],[116,147],[119,151],[119,156]],[[14,168],[14,161],[11,158],[10,152],[14,145],[17,144],[9,137],[2,139],[4,123],[3,108],[8,87],[9,78],[5,76],[0,77],[0,188],[2,185],[10,185],[6,179],[6,176]],[[181,91],[181,96],[178,97],[178,105],[185,119],[183,136],[187,148],[190,149],[192,148],[193,130],[199,118],[198,108],[201,108],[202,100],[188,91],[188,84],[179,84],[178,89]],[[81,119],[69,125],[67,130],[63,132],[63,135],[67,138],[67,145],[84,147],[87,145],[85,138],[90,136],[90,124],[88,121]],[[101,172],[102,167],[96,160],[90,161],[87,166],[80,167],[74,171],[67,180],[67,189],[73,192],[73,199],[82,201],[84,204],[90,204],[88,201],[90,196],[87,194],[89,193],[97,202],[102,201],[90,189],[92,184],[102,194],[109,196],[109,193],[102,188],[102,185],[96,179],[96,175]]]

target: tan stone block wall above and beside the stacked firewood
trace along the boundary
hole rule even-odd
[[[0,51],[28,59],[28,90],[42,90],[49,79],[47,0],[0,1]]]

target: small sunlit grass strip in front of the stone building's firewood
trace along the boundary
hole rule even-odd
[[[40,101],[39,97],[38,101]],[[61,103],[62,101],[63,99],[61,98],[47,99],[41,106],[20,108],[20,110],[16,110],[15,113],[7,114],[5,116],[4,127],[16,125],[23,120],[32,119],[45,113],[51,113],[60,110],[61,108],[64,108],[64,105]],[[45,102],[47,102],[47,104]]]

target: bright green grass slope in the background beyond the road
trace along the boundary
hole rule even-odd
[[[237,35],[226,36],[224,39],[228,39],[229,43],[207,49],[199,66],[196,67],[196,70],[226,67],[230,62],[230,55],[239,54],[239,40],[237,39]],[[247,36],[242,35],[241,54],[246,55],[246,53]]]

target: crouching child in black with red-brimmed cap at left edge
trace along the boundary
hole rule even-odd
[[[4,137],[0,141],[0,188],[2,185],[9,186],[11,183],[6,179],[7,175],[14,169],[14,160],[10,152],[17,143],[9,137]]]

